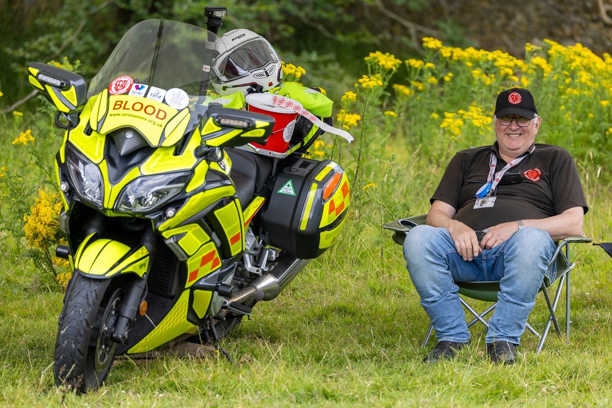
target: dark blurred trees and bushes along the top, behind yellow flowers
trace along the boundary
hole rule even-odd
[[[79,59],[89,80],[136,22],[160,17],[203,26],[209,5],[228,7],[222,32],[264,35],[285,61],[305,67],[311,86],[336,98],[365,69],[367,51],[417,56],[422,37],[517,57],[524,43],[550,38],[602,54],[612,45],[607,1],[518,0],[507,7],[483,0],[0,0],[0,109],[32,91],[29,61]]]

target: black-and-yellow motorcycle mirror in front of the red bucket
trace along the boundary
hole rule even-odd
[[[274,117],[211,104],[200,125],[202,143],[209,147],[237,147],[267,139]]]

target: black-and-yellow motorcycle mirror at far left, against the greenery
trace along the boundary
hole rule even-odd
[[[85,79],[72,71],[42,62],[30,62],[28,79],[60,112],[75,113],[87,102]]]

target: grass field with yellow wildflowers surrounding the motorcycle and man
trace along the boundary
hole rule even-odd
[[[542,100],[544,120],[538,141],[561,144],[577,160],[591,207],[585,233],[595,242],[609,241],[612,105],[602,95],[612,84],[612,70],[605,65],[612,60],[606,59],[603,67],[592,65],[597,71],[589,81],[602,86],[573,83],[573,71],[567,71],[569,82],[552,74],[543,80],[542,72],[550,69],[565,75],[559,55],[569,53],[574,58],[584,52],[554,46],[551,50],[556,50],[549,55],[552,68],[544,65],[546,61],[534,60],[537,67],[529,62],[515,67],[515,72],[528,74],[525,78],[534,81],[536,100]],[[493,142],[486,127],[494,95],[516,78],[508,73],[483,77],[483,72],[498,69],[498,60],[493,64],[487,54],[465,51],[460,58],[470,65],[464,65],[462,59],[441,61],[433,52],[428,50],[434,67],[425,64],[425,73],[409,68],[408,79],[414,81],[410,88],[394,88],[394,100],[376,87],[356,85],[354,109],[343,101],[346,113],[360,116],[359,128],[351,130],[356,144],[338,158],[333,142],[325,139],[325,151],[315,152],[315,157],[335,154],[349,174],[360,166],[359,177],[351,179],[353,202],[345,229],[330,251],[312,261],[277,299],[259,303],[252,321],[242,322],[223,340],[222,347],[234,363],[215,355],[122,358],[105,385],[84,396],[53,385],[62,288],[24,257],[26,240],[15,235],[23,212],[18,213],[12,203],[20,195],[33,203],[44,177],[39,166],[28,165],[32,157],[26,150],[11,141],[31,128],[37,149],[43,152],[34,161],[51,160],[60,143],[60,136],[47,137],[56,132],[51,127],[53,112],[42,108],[24,113],[23,118],[0,116],[0,166],[10,165],[21,177],[12,180],[17,190],[0,179],[0,406],[611,406],[612,261],[590,244],[572,247],[577,267],[572,272],[569,341],[552,331],[543,352],[535,355],[538,339],[525,333],[517,364],[496,366],[487,360],[482,326],[476,325],[471,345],[458,358],[422,363],[435,339],[428,349],[420,346],[428,319],[405,270],[401,248],[380,225],[426,212],[428,198],[453,152]],[[515,62],[505,56],[502,60],[504,69],[514,67]],[[378,64],[382,67],[383,62]],[[472,67],[472,62],[481,65]],[[371,68],[377,62],[368,64]],[[419,64],[423,65],[413,65]],[[387,75],[389,70],[381,68],[379,73]],[[388,81],[390,75],[385,75],[380,78]],[[569,84],[567,89],[574,86],[571,91],[576,93],[558,90],[557,83]],[[589,89],[599,94],[589,94]],[[472,109],[472,97],[480,107]],[[41,102],[41,106],[46,105]],[[383,116],[391,108],[395,116]],[[0,173],[8,177],[4,169]],[[564,310],[564,300],[559,309]],[[561,324],[563,315],[559,313]],[[540,296],[529,322],[541,331],[547,317]]]

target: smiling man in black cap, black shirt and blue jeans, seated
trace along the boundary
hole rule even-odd
[[[583,234],[588,207],[576,165],[565,149],[534,144],[542,118],[531,92],[502,91],[494,114],[497,141],[450,160],[427,225],[412,228],[404,242],[406,267],[438,338],[425,362],[455,357],[470,339],[455,281],[499,280],[487,354],[514,363],[554,241]]]

